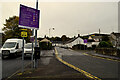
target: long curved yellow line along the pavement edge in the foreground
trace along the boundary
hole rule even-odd
[[[69,67],[71,67],[71,68],[73,68],[73,69],[75,69],[75,70],[77,70],[77,71],[79,71],[79,72],[81,72],[81,73],[83,73],[85,76],[87,76],[87,77],[89,77],[89,78],[91,78],[91,79],[94,79],[94,80],[101,80],[100,78],[98,78],[98,77],[96,77],[96,76],[94,76],[94,75],[92,75],[92,74],[90,74],[90,73],[88,73],[88,72],[86,72],[86,71],[78,68],[78,67],[75,67],[74,65],[69,64],[69,63],[65,62],[64,60],[62,60],[61,58],[59,58],[59,57],[58,57],[58,52],[57,52],[57,49],[56,49],[56,48],[55,48],[55,55],[56,55],[56,58],[57,58],[60,62],[62,62],[63,64],[65,64],[65,65],[67,65],[67,66],[69,66]]]

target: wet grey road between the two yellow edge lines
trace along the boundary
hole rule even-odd
[[[95,58],[73,50],[57,48],[59,57],[86,72],[102,78],[119,80],[119,62]]]

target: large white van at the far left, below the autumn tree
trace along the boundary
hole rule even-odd
[[[24,41],[24,44],[26,42]],[[2,58],[4,56],[17,56],[22,54],[22,39],[7,39],[1,48]]]

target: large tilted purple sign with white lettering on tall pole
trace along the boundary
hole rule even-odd
[[[20,4],[19,27],[39,29],[40,10]]]

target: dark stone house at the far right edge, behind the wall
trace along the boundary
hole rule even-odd
[[[120,33],[111,33],[110,41],[113,44],[113,47],[119,48],[120,47]]]

